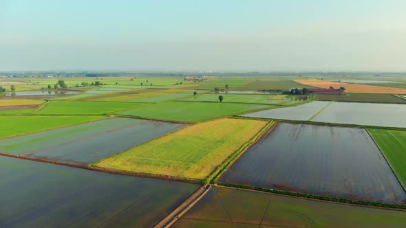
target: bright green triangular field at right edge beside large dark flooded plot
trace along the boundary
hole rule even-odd
[[[406,186],[406,131],[368,129],[399,181]]]

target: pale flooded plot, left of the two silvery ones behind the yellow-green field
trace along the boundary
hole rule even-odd
[[[280,109],[270,109],[259,111],[257,113],[248,113],[244,117],[257,117],[268,119],[292,119],[292,120],[309,120],[317,112],[321,111],[330,102],[310,102],[299,106],[286,107]]]

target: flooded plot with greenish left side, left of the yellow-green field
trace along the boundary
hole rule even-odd
[[[111,118],[0,140],[0,152],[86,164],[184,127],[143,119]]]

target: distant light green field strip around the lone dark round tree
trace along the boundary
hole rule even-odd
[[[253,103],[253,104],[284,104],[290,100],[271,100],[273,95],[257,95],[257,94],[201,94],[184,98],[190,102],[219,102],[219,95],[223,96],[223,102],[231,103]]]

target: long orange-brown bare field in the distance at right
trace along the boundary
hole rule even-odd
[[[367,84],[351,84],[345,82],[332,82],[328,80],[295,80],[300,84],[306,84],[311,87],[319,87],[328,89],[334,87],[334,89],[339,89],[340,87],[345,87],[345,92],[349,93],[399,93],[406,94],[406,89],[392,88],[392,87],[379,87]]]

